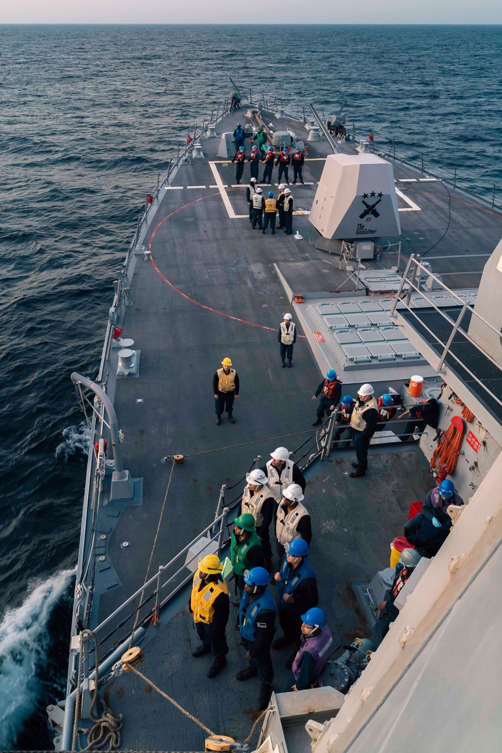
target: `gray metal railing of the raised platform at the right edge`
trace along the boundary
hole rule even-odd
[[[431,277],[434,282],[443,289],[444,293],[448,295],[450,298],[452,298],[455,303],[458,306],[461,306],[461,310],[458,313],[458,316],[456,319],[452,319],[451,316],[444,310],[441,309],[440,306],[437,306],[436,303],[434,303],[434,300],[432,300],[431,296],[427,296],[424,291],[421,291],[421,289],[418,287],[418,285],[415,284],[415,279],[417,275],[420,273],[426,273],[428,277]],[[403,296],[403,288],[405,285],[409,285],[406,294]],[[420,316],[418,316],[418,313],[416,310],[414,310],[411,306],[412,303],[412,291],[415,291],[418,296],[420,296],[422,299],[427,301],[427,306],[431,306],[437,313],[440,314],[440,316],[443,317],[443,319],[446,320],[446,322],[451,325],[451,331],[449,334],[449,338],[446,341],[446,343],[443,343],[442,340],[437,336],[435,332],[433,332],[430,328],[427,327],[427,325],[424,324],[423,319],[421,319]],[[435,290],[434,293],[438,294],[439,289]],[[409,258],[408,264],[406,265],[406,270],[403,274],[403,278],[401,279],[400,286],[397,290],[396,297],[394,298],[394,303],[391,306],[391,311],[389,312],[389,316],[391,319],[395,319],[396,317],[396,309],[397,307],[405,308],[418,322],[420,328],[423,328],[425,331],[427,331],[428,334],[431,335],[433,338],[433,341],[437,343],[437,346],[440,346],[441,354],[438,356],[437,363],[434,364],[434,361],[431,361],[431,366],[438,372],[438,373],[446,373],[446,369],[444,367],[446,358],[452,359],[452,361],[455,361],[455,364],[458,364],[463,370],[465,370],[469,376],[479,385],[482,392],[488,394],[490,398],[492,398],[495,402],[497,402],[502,407],[502,400],[500,400],[500,397],[496,395],[494,392],[491,392],[490,389],[488,389],[487,386],[485,386],[484,383],[482,383],[482,380],[479,379],[479,377],[476,377],[476,374],[474,374],[467,366],[464,364],[464,361],[461,361],[461,358],[458,358],[457,355],[452,351],[452,343],[455,340],[456,334],[461,334],[462,337],[464,337],[472,346],[474,346],[477,350],[479,350],[480,353],[485,358],[488,358],[488,361],[491,361],[491,364],[493,364],[497,369],[500,369],[499,364],[497,364],[497,361],[494,361],[493,358],[491,358],[488,353],[482,349],[481,346],[479,346],[478,343],[473,340],[472,337],[468,334],[468,332],[464,331],[461,328],[462,320],[464,319],[464,316],[467,312],[467,309],[469,309],[470,316],[474,317],[475,319],[478,319],[479,322],[482,322],[485,327],[488,327],[494,334],[497,335],[497,337],[500,337],[500,331],[490,324],[490,322],[487,322],[486,319],[481,316],[476,309],[473,309],[471,306],[469,306],[469,303],[464,299],[458,296],[455,291],[452,291],[450,288],[448,288],[444,282],[437,276],[435,276],[427,267],[424,267],[424,264],[421,264],[420,261],[418,261],[417,258],[415,258],[415,255],[412,254]],[[419,311],[423,309],[419,308]]]

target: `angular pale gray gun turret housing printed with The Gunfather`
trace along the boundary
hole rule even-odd
[[[357,258],[373,258],[376,239],[401,233],[391,164],[367,152],[330,154],[309,221],[315,248],[341,256],[352,243]]]

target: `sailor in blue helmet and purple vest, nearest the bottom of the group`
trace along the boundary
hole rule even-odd
[[[327,666],[333,653],[333,637],[326,624],[326,614],[319,607],[302,614],[300,648],[293,662],[293,676],[284,687],[284,693],[306,691],[317,686],[317,679]]]

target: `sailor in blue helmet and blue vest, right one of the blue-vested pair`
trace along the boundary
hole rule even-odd
[[[301,644],[302,614],[318,605],[319,594],[314,569],[306,560],[309,544],[303,538],[294,538],[285,549],[284,562],[274,575],[283,635],[275,639],[272,648],[284,648],[294,643],[294,652],[286,662],[290,668]]]

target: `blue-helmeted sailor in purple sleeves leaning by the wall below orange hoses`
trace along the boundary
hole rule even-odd
[[[404,526],[404,535],[421,556],[436,556],[449,534],[452,527],[447,513],[449,505],[464,505],[464,500],[455,492],[453,481],[446,478],[427,493],[421,512]]]

